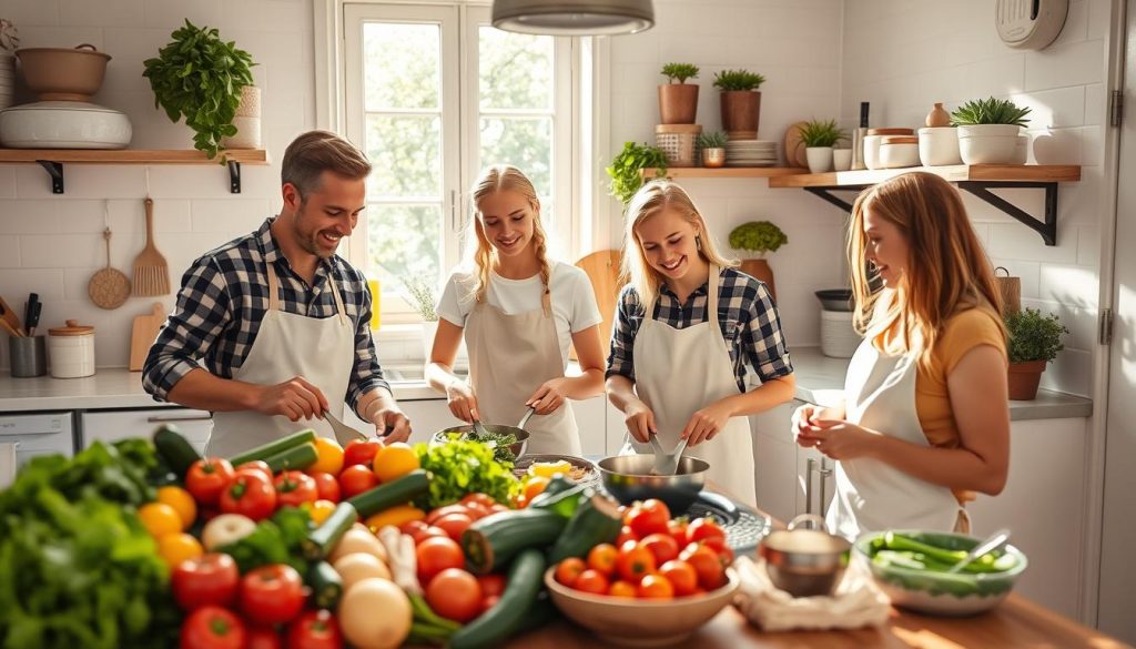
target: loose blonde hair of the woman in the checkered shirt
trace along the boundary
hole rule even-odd
[[[718,244],[707,230],[707,222],[702,218],[702,213],[694,207],[694,201],[683,188],[671,181],[651,181],[644,184],[635,195],[632,197],[627,206],[626,228],[624,230],[624,277],[627,283],[638,293],[640,303],[644,309],[649,309],[654,303],[655,296],[659,294],[659,284],[663,282],[662,275],[651,268],[643,253],[643,246],[640,244],[635,228],[638,224],[659,214],[663,209],[673,209],[684,219],[694,225],[695,235],[699,236],[701,246],[699,255],[708,263],[718,266],[737,266],[737,260],[727,259],[718,251]],[[650,317],[651,314],[648,314]]]

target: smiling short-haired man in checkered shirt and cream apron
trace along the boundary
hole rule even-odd
[[[325,131],[284,153],[278,216],[199,258],[182,278],[142,382],[156,400],[214,411],[209,455],[232,456],[342,417],[390,441],[410,423],[383,378],[362,273],[335,255],[366,206],[370,164]]]

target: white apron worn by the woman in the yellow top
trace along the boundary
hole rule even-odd
[[[845,418],[905,442],[930,446],[916,413],[916,355],[887,356],[860,343],[844,382]],[[950,532],[966,510],[950,489],[871,458],[836,461],[828,529],[849,540],[888,529]]]

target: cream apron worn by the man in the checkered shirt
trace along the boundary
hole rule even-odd
[[[343,418],[343,398],[354,368],[354,327],[334,277],[328,277],[328,284],[335,297],[334,316],[310,318],[285,313],[281,309],[276,269],[268,263],[268,310],[260,321],[252,349],[233,378],[275,385],[303,376],[324,393],[331,413]],[[269,417],[252,410],[214,413],[206,456],[231,457],[304,428],[333,436],[323,419],[291,422],[283,415]]]

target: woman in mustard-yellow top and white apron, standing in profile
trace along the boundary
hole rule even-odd
[[[989,260],[958,191],[911,173],[864,191],[849,233],[857,326],[844,402],[802,406],[796,441],[836,461],[829,529],[969,529],[1010,458],[1005,330]],[[883,282],[869,289],[866,263]]]

